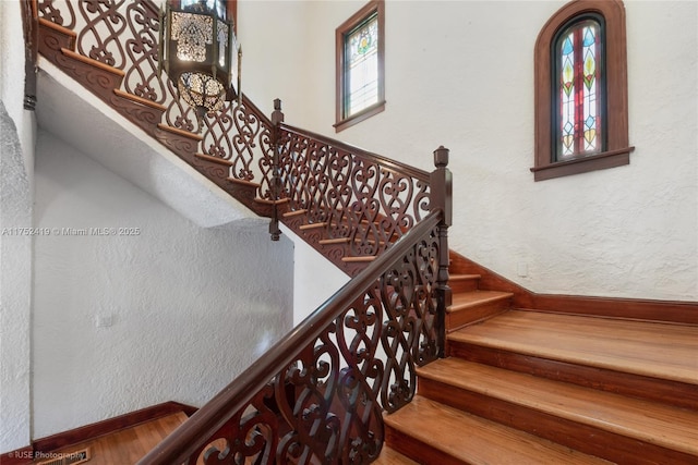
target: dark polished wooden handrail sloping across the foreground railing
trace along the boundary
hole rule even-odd
[[[365,293],[366,287],[381,279],[386,269],[402,259],[414,246],[416,240],[429,234],[442,219],[442,210],[430,213],[143,457],[139,465],[172,465],[195,458],[191,455],[205,445],[233,414],[244,408],[275,374],[286,369],[296,359],[299,347],[304,347],[308,341],[315,340],[342,311]]]

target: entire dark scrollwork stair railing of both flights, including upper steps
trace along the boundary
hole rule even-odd
[[[36,0],[26,0],[28,2]],[[448,150],[428,173],[266,118],[246,97],[200,121],[157,65],[149,0],[38,0],[39,51],[221,188],[354,278],[142,464],[356,463],[383,412],[443,353]],[[201,124],[201,126],[198,125]]]

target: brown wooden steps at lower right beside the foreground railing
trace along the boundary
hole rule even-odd
[[[698,463],[698,326],[516,309],[514,293],[479,281],[452,276],[447,357],[419,368],[413,401],[385,415],[389,454]]]

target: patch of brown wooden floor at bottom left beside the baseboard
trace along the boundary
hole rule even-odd
[[[89,465],[134,464],[188,418],[183,412],[177,412],[55,452],[68,455],[91,448]]]

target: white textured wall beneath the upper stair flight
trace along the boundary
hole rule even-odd
[[[291,327],[292,245],[266,221],[198,228],[45,132],[35,223],[34,438],[200,406]]]

